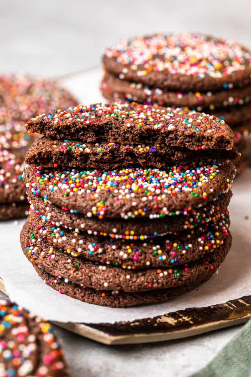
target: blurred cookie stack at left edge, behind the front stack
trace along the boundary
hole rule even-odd
[[[24,157],[34,135],[25,122],[52,107],[76,104],[75,98],[49,79],[0,76],[0,220],[27,216],[29,206],[21,180]]]

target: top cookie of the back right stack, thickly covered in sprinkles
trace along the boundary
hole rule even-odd
[[[103,65],[120,79],[181,91],[249,83],[251,53],[239,43],[198,33],[153,34],[107,47]]]

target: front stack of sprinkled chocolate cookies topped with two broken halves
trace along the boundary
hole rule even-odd
[[[176,297],[218,270],[239,156],[223,120],[112,103],[43,113],[26,128],[44,137],[26,154],[20,241],[46,284],[127,307]]]

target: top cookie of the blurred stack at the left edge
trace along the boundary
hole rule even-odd
[[[0,76],[0,149],[9,149],[25,156],[34,135],[25,130],[25,122],[43,111],[76,100],[56,81],[28,75]]]

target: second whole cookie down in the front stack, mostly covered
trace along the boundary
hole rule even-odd
[[[209,222],[224,212],[232,196],[231,190],[220,195],[216,200],[205,203],[202,207],[193,209],[187,207],[182,211],[172,212],[170,216],[161,218],[135,219],[99,219],[88,217],[68,210],[67,207],[58,207],[44,201],[41,196],[29,193],[30,210],[35,211],[44,221],[53,221],[56,226],[69,229],[85,230],[88,234],[110,235],[111,238],[147,239],[167,232],[180,232],[187,228],[197,227]]]

